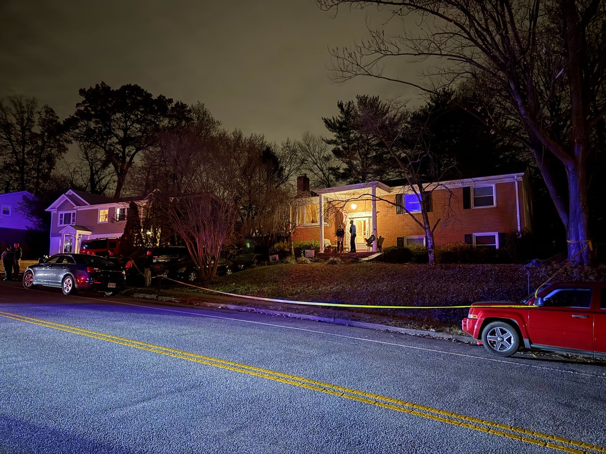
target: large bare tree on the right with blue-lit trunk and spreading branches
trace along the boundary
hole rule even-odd
[[[385,72],[396,58],[438,58],[433,73],[448,83],[489,81],[507,94],[568,240],[568,257],[590,263],[587,162],[592,135],[606,114],[606,4],[601,0],[318,0],[324,10],[341,5],[388,8],[392,18],[418,13],[421,35],[370,30],[353,48],[336,48],[336,79],[364,75],[426,89]],[[391,24],[393,25],[393,24]],[[436,80],[436,79],[434,79]],[[558,176],[565,185],[558,185]],[[582,251],[582,252],[581,252]]]

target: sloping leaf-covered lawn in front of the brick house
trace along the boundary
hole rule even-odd
[[[325,303],[389,306],[465,306],[473,301],[518,300],[544,283],[559,266],[525,268],[521,265],[395,265],[388,263],[344,263],[327,265],[273,265],[238,272],[205,283],[207,288],[241,295]],[[606,268],[565,268],[562,280],[603,280]],[[204,293],[204,292],[201,292]],[[190,298],[196,297],[191,291]],[[284,304],[252,303],[284,310]],[[289,305],[288,310],[338,317],[331,308]],[[455,327],[467,309],[356,309],[364,314],[389,317],[401,322],[446,324]],[[399,320],[399,321],[398,321]]]

